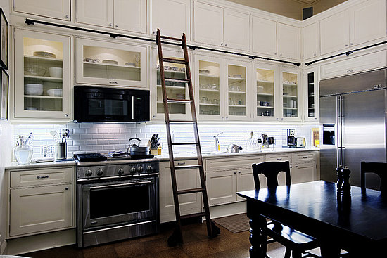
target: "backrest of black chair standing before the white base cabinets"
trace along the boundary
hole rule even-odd
[[[252,167],[255,189],[260,189],[260,174],[266,177],[267,188],[278,186],[277,176],[279,172],[285,172],[286,186],[291,185],[290,165],[288,161],[267,161],[255,163]]]

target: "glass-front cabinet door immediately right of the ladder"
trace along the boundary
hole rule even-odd
[[[224,63],[220,58],[196,56],[196,105],[198,117],[224,119]]]

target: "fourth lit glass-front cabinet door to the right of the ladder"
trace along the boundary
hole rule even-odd
[[[300,116],[300,88],[299,88],[299,70],[293,70],[287,67],[280,67],[280,84],[282,93],[282,112],[281,120],[301,119]]]

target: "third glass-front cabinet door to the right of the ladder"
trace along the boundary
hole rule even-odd
[[[254,64],[254,72],[254,117],[256,120],[278,120],[277,67]]]

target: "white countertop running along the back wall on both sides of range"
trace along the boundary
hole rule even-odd
[[[242,155],[260,155],[260,154],[276,154],[276,153],[294,153],[302,151],[319,151],[319,148],[305,147],[305,148],[267,148],[262,151],[259,150],[242,150],[241,153],[222,153],[222,152],[203,152],[203,158],[208,159],[212,157],[227,157],[227,156],[242,156]],[[160,161],[170,160],[170,156],[166,153],[163,155],[155,156]],[[196,159],[196,152],[189,153],[175,153],[175,160],[194,160]],[[12,162],[6,166],[7,170],[12,169],[39,169],[44,167],[68,167],[75,166],[74,160],[56,161],[56,162],[43,162],[43,163],[30,163],[25,165],[19,165],[18,162]]]

